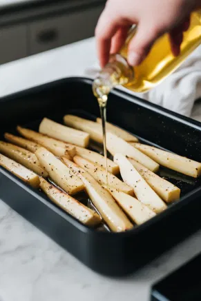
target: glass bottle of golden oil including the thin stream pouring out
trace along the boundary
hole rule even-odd
[[[135,35],[136,30],[137,28],[131,29],[122,50],[120,50],[119,54],[111,56],[110,62],[93,83],[93,94],[97,97],[99,104],[106,100],[104,108],[100,106],[105,158],[107,158],[106,103],[109,92],[117,85],[123,85],[134,92],[147,92],[164,80],[166,76],[174,72],[201,43],[201,10],[191,14],[191,24],[189,30],[184,32],[179,56],[173,56],[169,36],[164,34],[155,41],[146,59],[140,65],[132,68],[128,65],[126,58],[129,41]]]

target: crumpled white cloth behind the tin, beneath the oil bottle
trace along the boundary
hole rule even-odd
[[[99,70],[98,65],[87,69],[86,76],[94,77]],[[123,87],[118,87],[125,90]],[[195,101],[201,97],[201,46],[199,46],[187,59],[164,81],[153,90],[146,93],[126,92],[146,99],[166,109],[184,116],[191,116]]]

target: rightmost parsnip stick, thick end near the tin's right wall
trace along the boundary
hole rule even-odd
[[[176,172],[185,174],[186,176],[192,176],[193,178],[198,178],[198,176],[201,175],[200,162],[190,160],[171,152],[166,152],[150,145],[144,145],[141,143],[134,143],[133,145],[139,149],[140,152],[143,152],[164,167],[173,169]]]

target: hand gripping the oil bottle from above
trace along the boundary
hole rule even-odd
[[[128,63],[139,65],[157,38],[168,32],[171,50],[180,54],[183,32],[200,0],[108,0],[95,30],[99,63],[103,68],[111,53],[118,52],[128,29],[137,32],[128,47]]]

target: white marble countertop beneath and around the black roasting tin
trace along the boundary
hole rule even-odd
[[[88,39],[1,65],[0,96],[82,76],[95,59],[93,39]],[[134,276],[106,278],[90,271],[0,200],[0,301],[148,301],[153,282],[200,251],[201,231]]]

